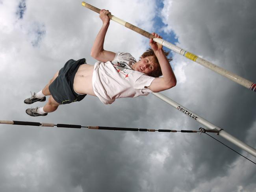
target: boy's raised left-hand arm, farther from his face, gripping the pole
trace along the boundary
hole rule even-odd
[[[103,48],[110,20],[108,14],[111,14],[108,10],[100,10],[100,19],[102,20],[103,24],[91,49],[91,57],[101,62],[113,61],[115,58],[114,52],[106,51]]]

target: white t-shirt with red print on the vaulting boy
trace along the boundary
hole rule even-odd
[[[116,98],[137,97],[152,92],[148,87],[154,77],[132,69],[136,63],[129,53],[118,52],[113,61],[96,62],[93,90],[102,103],[111,104]]]

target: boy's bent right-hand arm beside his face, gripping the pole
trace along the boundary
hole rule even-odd
[[[152,33],[152,35],[155,35],[155,37],[160,37],[156,33]],[[152,50],[154,50],[154,53],[159,61],[163,78],[155,78],[150,86],[148,86],[148,89],[152,90],[153,92],[160,92],[174,87],[176,85],[176,78],[170,63],[163,52],[163,46],[154,42],[153,39],[150,39],[150,46]]]

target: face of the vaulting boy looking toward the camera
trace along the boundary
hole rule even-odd
[[[154,56],[148,56],[145,58],[141,58],[140,61],[138,61],[137,63],[134,63],[134,65],[132,65],[132,68],[135,71],[139,71],[145,74],[150,74],[151,72],[153,72],[158,68],[158,65],[154,63]]]

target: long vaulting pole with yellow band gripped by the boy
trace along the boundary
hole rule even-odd
[[[84,7],[87,7],[88,9],[91,9],[92,11],[95,11],[96,13],[100,13],[100,9],[98,9],[97,7],[94,7],[90,4],[87,4],[85,2],[82,2],[82,6]],[[245,79],[245,78],[242,78],[232,72],[229,72],[227,70],[225,70],[224,68],[221,68],[209,61],[206,61],[205,59],[202,59],[201,57],[198,57],[197,55],[195,54],[192,54],[168,41],[165,41],[164,39],[160,39],[160,38],[155,38],[154,35],[152,35],[151,33],[148,33],[147,31],[144,31],[124,20],[121,20],[120,18],[117,18],[113,15],[109,15],[109,18],[149,39],[154,39],[155,42],[158,42],[159,44],[162,44],[163,46],[173,50],[174,52],[180,54],[180,55],[183,55],[185,57],[187,57],[188,59],[191,59],[192,61],[195,61],[196,63],[202,65],[202,66],[205,66],[206,68],[210,69],[210,70],[213,70],[214,72],[217,72],[218,74],[221,74],[222,76],[252,90],[252,91],[255,91],[256,92],[256,84]]]

